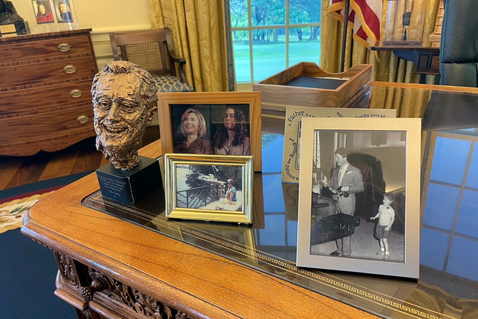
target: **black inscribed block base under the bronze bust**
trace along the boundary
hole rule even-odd
[[[96,170],[101,195],[125,204],[137,203],[153,190],[163,186],[159,162],[140,156],[141,163],[131,170],[116,169],[113,164]]]

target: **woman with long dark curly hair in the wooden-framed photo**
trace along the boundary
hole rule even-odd
[[[236,106],[227,107],[213,137],[214,154],[250,155],[248,134],[244,113]]]

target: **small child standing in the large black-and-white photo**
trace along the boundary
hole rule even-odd
[[[383,204],[379,207],[379,212],[374,217],[370,217],[370,220],[379,219],[377,227],[375,228],[375,237],[378,238],[380,243],[380,250],[377,252],[377,256],[383,256],[383,259],[390,259],[390,249],[388,244],[388,238],[390,236],[391,225],[395,221],[395,210],[391,208],[390,204],[395,200],[393,193],[386,193],[383,196]]]

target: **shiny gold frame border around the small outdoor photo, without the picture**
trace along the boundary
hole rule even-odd
[[[189,220],[229,221],[251,224],[253,162],[252,156],[224,156],[202,154],[164,154],[166,217]],[[218,165],[241,167],[242,172],[242,211],[191,209],[177,207],[176,201],[176,165]]]

